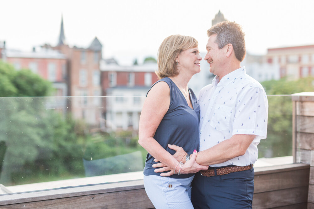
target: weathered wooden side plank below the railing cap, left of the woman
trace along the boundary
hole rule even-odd
[[[144,189],[6,205],[0,208],[153,208]]]

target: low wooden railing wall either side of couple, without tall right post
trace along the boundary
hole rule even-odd
[[[310,165],[255,168],[253,208],[306,208]],[[0,196],[0,208],[154,208],[143,180]]]

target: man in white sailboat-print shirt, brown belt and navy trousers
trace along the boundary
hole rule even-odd
[[[224,21],[207,34],[204,59],[215,78],[199,94],[200,152],[196,162],[210,167],[195,175],[192,203],[202,209],[252,208],[253,163],[258,157],[257,144],[266,138],[267,96],[261,84],[241,67],[246,53],[241,26]],[[182,159],[180,147],[169,147]],[[189,160],[189,155],[186,158]],[[162,169],[156,171],[170,170]]]

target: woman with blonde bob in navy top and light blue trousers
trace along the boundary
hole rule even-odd
[[[193,91],[187,87],[191,77],[200,72],[200,60],[198,42],[190,36],[171,35],[158,50],[156,74],[160,80],[147,93],[138,140],[149,153],[144,168],[144,186],[156,208],[193,208],[193,173],[208,168],[195,162],[199,147],[199,106]],[[185,164],[177,161],[168,144],[193,153],[188,155],[191,159],[187,162],[181,159]],[[154,159],[169,165],[175,170],[174,174],[162,177],[155,173]]]

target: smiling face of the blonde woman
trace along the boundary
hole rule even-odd
[[[187,70],[187,72],[192,72],[193,75],[201,71],[200,61],[202,57],[199,55],[198,47],[189,48],[181,51],[177,57],[179,61],[178,69],[180,71]]]

